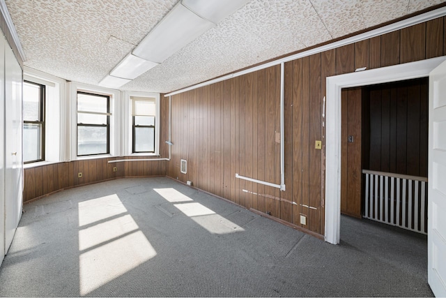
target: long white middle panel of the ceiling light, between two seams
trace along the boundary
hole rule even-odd
[[[181,3],[178,3],[148,33],[148,36],[139,43],[132,54],[148,61],[162,63],[214,26],[215,24],[212,22],[204,20],[185,8]]]

